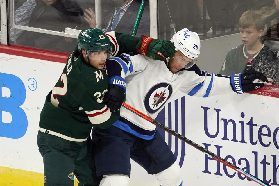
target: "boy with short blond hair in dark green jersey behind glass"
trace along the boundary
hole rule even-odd
[[[239,19],[239,31],[243,44],[232,48],[226,56],[220,74],[242,73],[248,70],[262,72],[269,85],[277,79],[278,60],[275,53],[260,42],[264,29],[264,19],[255,10],[248,10]]]

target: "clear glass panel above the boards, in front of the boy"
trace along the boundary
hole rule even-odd
[[[241,26],[255,26],[256,21],[245,21],[249,19],[244,15],[248,10],[256,11],[255,20],[263,25],[254,27],[254,36],[247,30],[244,36],[239,32],[242,15]],[[182,28],[200,37],[201,54],[197,65],[201,70],[228,76],[256,70],[270,78],[272,85],[279,85],[279,1],[158,1],[158,37],[169,40]]]

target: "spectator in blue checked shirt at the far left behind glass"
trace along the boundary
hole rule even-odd
[[[37,5],[35,0],[15,0],[15,24],[22,26],[29,26],[29,21],[31,19],[31,13],[35,6]],[[24,30],[10,29],[10,41],[14,41],[22,34]],[[1,31],[0,31],[0,42]]]

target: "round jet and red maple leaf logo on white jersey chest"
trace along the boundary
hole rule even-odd
[[[155,113],[162,108],[172,93],[168,83],[159,83],[150,88],[144,97],[144,106],[149,113]]]

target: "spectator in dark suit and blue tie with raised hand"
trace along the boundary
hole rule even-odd
[[[115,11],[105,16],[103,20],[103,31],[116,31],[124,33],[133,33],[133,27],[140,8],[141,0],[112,0],[114,2]],[[89,8],[84,13],[85,21],[91,28],[96,27],[94,11]],[[108,20],[108,22],[106,21]],[[145,7],[140,24],[137,29],[137,35],[150,35],[149,23],[149,7]]]

